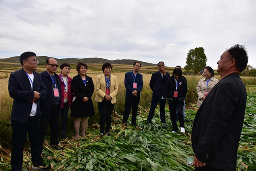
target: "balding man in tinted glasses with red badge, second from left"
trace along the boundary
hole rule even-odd
[[[58,121],[59,110],[61,109],[61,82],[59,76],[55,73],[58,68],[58,63],[54,58],[48,58],[45,66],[46,71],[40,73],[42,81],[47,88],[47,94],[41,101],[41,150],[43,150],[44,136],[46,134],[48,124],[50,125],[50,144],[53,145],[54,148],[61,148],[58,146]]]

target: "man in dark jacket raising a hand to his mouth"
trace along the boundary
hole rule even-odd
[[[166,83],[170,74],[164,70],[164,62],[158,62],[157,64],[158,71],[153,73],[149,82],[149,86],[153,91],[151,107],[148,113],[147,123],[152,123],[151,120],[154,116],[154,110],[157,107],[158,101],[160,105],[160,119],[162,123],[166,123],[165,120],[165,104],[166,104]]]

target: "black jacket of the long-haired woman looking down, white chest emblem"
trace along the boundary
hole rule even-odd
[[[176,91],[176,82],[175,78],[172,75],[167,83],[166,83],[166,93],[167,93],[167,98],[169,102],[175,102],[175,101],[183,101],[186,100],[186,93],[188,92],[186,80],[181,76],[179,79],[179,84],[178,84],[178,96],[173,97],[174,91]]]

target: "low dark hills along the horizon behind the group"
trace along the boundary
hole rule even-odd
[[[37,60],[40,62],[40,64],[45,64],[45,61],[48,56],[37,56]],[[117,59],[117,60],[108,60],[108,59],[103,59],[103,58],[65,58],[65,59],[58,59],[55,58],[58,64],[63,64],[64,62],[68,64],[76,64],[77,62],[81,61],[85,64],[103,64],[105,62],[110,62],[111,64],[123,64],[123,65],[132,65],[136,60],[133,59]],[[14,56],[11,58],[0,58],[0,62],[12,62],[12,63],[20,63],[20,57],[19,56]],[[143,62],[139,61],[141,65],[143,66],[156,66],[156,64],[148,63],[148,62]]]

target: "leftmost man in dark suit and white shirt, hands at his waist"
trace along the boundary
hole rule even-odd
[[[40,131],[40,100],[45,97],[47,89],[42,82],[41,75],[35,72],[38,61],[33,52],[20,55],[22,69],[13,72],[9,78],[9,94],[14,99],[12,105],[12,171],[21,171],[23,163],[23,146],[27,133],[33,166],[41,170],[45,167],[39,143]]]

